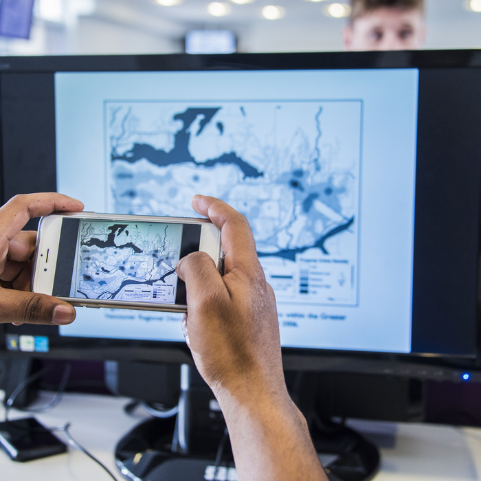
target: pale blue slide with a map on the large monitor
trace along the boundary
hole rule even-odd
[[[55,91],[59,192],[163,216],[223,199],[283,346],[410,352],[416,69],[61,73]],[[81,308],[60,333],[183,341],[180,320]]]

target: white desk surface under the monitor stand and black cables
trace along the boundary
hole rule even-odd
[[[42,394],[43,401],[49,394]],[[104,462],[118,480],[113,449],[120,437],[145,416],[128,416],[127,399],[93,394],[65,394],[60,404],[36,418],[47,427],[71,423],[74,439]],[[10,418],[25,413],[11,412]],[[3,408],[0,408],[3,419]],[[481,429],[410,423],[352,421],[381,449],[381,471],[375,481],[481,480]],[[63,434],[58,435],[62,438]],[[0,451],[2,481],[111,480],[85,454],[69,447],[67,454],[25,463],[13,462]]]

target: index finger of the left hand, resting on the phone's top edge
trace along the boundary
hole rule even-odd
[[[83,204],[77,199],[56,192],[16,195],[0,208],[0,232],[3,238],[11,240],[32,217],[57,211],[80,212],[82,209]]]

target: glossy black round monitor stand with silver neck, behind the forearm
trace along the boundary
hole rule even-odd
[[[300,389],[304,391],[304,388]],[[306,395],[304,395],[306,394]],[[304,411],[311,401],[308,393]],[[331,481],[370,480],[379,468],[377,448],[348,427],[306,416],[320,456],[331,455],[324,469]],[[126,479],[148,481],[237,480],[225,423],[212,391],[192,366],[181,367],[179,413],[150,418],[134,427],[115,447],[115,462]]]

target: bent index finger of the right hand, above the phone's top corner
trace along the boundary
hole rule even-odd
[[[259,265],[254,236],[243,214],[220,199],[203,195],[192,198],[192,207],[221,230],[226,273],[233,267]]]

